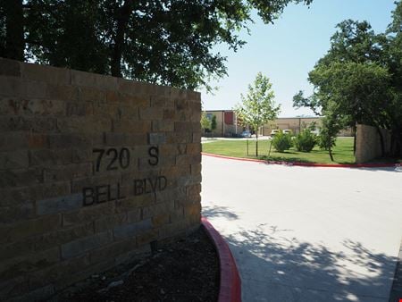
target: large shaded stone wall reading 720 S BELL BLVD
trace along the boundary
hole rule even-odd
[[[200,95],[0,59],[0,300],[34,300],[200,222]]]

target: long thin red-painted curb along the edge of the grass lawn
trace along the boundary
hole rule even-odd
[[[201,152],[202,155],[233,159],[242,162],[255,162],[262,164],[283,164],[283,165],[296,165],[303,167],[326,167],[326,168],[389,168],[399,167],[401,164],[314,164],[314,163],[299,163],[299,162],[285,162],[285,161],[265,161],[264,159],[244,158],[244,157],[232,157],[226,155],[214,155],[212,153]]]

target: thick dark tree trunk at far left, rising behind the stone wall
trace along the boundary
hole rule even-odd
[[[9,59],[24,61],[24,15],[22,0],[4,1],[5,10],[5,49]]]

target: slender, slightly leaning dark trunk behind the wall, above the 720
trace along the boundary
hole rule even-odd
[[[113,38],[113,49],[112,49],[112,62],[111,62],[111,72],[113,77],[121,78],[121,58],[122,52],[125,44],[125,34],[127,29],[127,24],[130,20],[130,14],[133,12],[134,6],[132,0],[126,0],[119,9],[117,16],[117,29],[116,35]]]

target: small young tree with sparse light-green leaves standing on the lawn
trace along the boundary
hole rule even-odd
[[[234,110],[243,126],[255,130],[255,155],[258,156],[258,130],[277,118],[281,105],[275,105],[272,84],[261,72],[257,73],[254,85],[248,85],[247,96],[241,95],[241,100]]]

